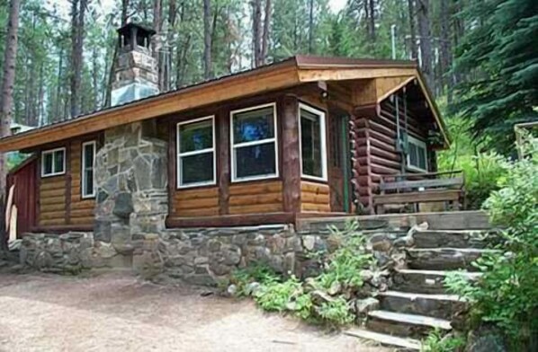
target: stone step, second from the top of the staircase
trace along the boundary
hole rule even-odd
[[[413,248],[407,250],[408,268],[426,270],[467,269],[476,271],[471,263],[483,254],[498,252],[474,248]]]

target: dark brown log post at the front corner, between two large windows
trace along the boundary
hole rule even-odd
[[[280,103],[282,123],[282,192],[287,213],[300,213],[300,140],[297,97],[285,95]]]

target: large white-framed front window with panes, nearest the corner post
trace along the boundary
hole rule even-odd
[[[231,112],[232,181],[278,177],[275,104]]]

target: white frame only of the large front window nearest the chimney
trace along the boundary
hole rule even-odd
[[[189,125],[192,123],[200,122],[206,119],[211,119],[211,130],[213,135],[213,145],[211,148],[205,148],[202,150],[194,150],[191,152],[185,152],[181,153],[180,151],[180,133],[179,128],[183,125]],[[192,189],[193,187],[202,187],[202,186],[212,186],[217,184],[217,153],[215,145],[217,143],[217,140],[215,138],[215,115],[211,116],[205,116],[203,118],[199,119],[189,119],[186,121],[178,122],[175,127],[175,183],[176,183],[176,189]],[[181,158],[182,156],[190,156],[190,155],[196,155],[196,154],[206,154],[211,152],[213,154],[213,180],[207,180],[202,182],[195,182],[195,183],[189,183],[186,185],[182,185],[182,170],[181,170]]]

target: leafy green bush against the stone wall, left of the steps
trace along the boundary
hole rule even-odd
[[[231,282],[238,286],[238,294],[246,295],[251,282],[261,285],[254,293],[257,304],[269,312],[290,312],[300,319],[325,323],[331,327],[354,321],[351,295],[363,286],[361,271],[372,266],[372,255],[366,252],[366,238],[350,223],[345,231],[331,229],[331,241],[340,246],[332,253],[316,252],[322,263],[322,272],[300,282],[291,276],[281,281],[271,270],[257,265],[238,270]]]

